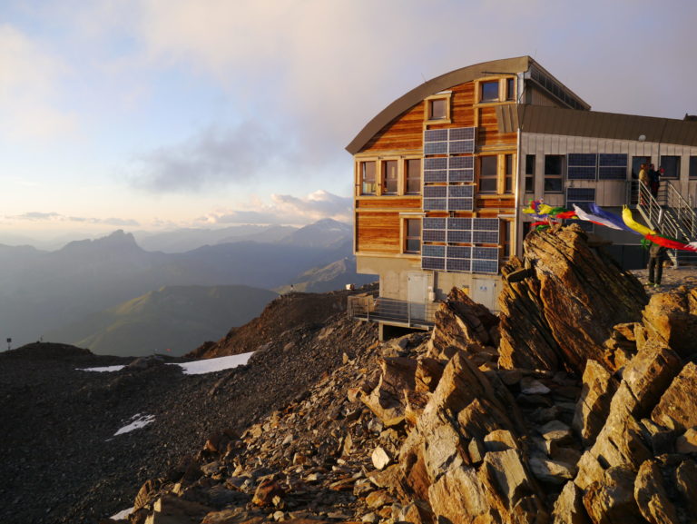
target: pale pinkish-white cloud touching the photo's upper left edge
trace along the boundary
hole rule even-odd
[[[58,108],[65,64],[12,25],[0,25],[0,138],[50,139],[74,133],[74,114]],[[9,124],[11,123],[11,124]]]

